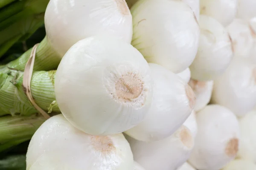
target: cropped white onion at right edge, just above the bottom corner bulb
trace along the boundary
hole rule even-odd
[[[238,157],[256,162],[256,110],[250,111],[239,119],[241,142]]]

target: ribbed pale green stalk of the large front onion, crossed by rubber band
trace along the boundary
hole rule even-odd
[[[0,67],[0,116],[32,115],[38,113],[23,91],[23,72]],[[54,79],[56,71],[37,71],[32,75],[31,92],[39,107],[45,111],[60,112],[55,102]]]

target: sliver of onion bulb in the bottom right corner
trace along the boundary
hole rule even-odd
[[[256,164],[244,159],[230,161],[222,170],[256,170]]]

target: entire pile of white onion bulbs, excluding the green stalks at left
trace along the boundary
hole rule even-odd
[[[255,0],[50,0],[62,114],[27,170],[256,170]]]

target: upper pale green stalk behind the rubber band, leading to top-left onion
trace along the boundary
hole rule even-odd
[[[29,59],[32,48],[22,54],[18,59],[7,64],[7,67],[14,68],[19,71],[24,71],[26,62]],[[44,38],[38,45],[35,56],[34,71],[49,71],[56,69],[61,61],[61,57],[52,49],[47,37]]]

